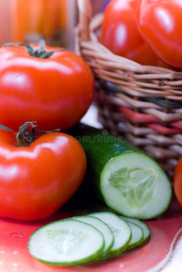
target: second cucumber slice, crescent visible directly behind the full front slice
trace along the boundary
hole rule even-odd
[[[85,222],[87,224],[90,224],[97,228],[103,235],[104,241],[105,241],[105,247],[104,247],[104,256],[107,255],[107,253],[110,251],[112,245],[114,244],[114,235],[109,228],[109,226],[101,221],[99,218],[94,216],[74,216],[72,219]]]

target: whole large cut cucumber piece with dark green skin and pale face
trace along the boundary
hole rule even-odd
[[[160,165],[108,131],[80,124],[69,131],[87,156],[84,186],[121,215],[151,219],[169,206],[171,183]]]

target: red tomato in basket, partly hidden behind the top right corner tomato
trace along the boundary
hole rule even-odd
[[[112,0],[106,7],[100,42],[113,53],[142,65],[167,66],[141,38],[136,23],[138,0]]]

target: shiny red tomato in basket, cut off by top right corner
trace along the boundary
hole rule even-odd
[[[164,62],[182,68],[182,4],[179,0],[139,0],[138,29]]]

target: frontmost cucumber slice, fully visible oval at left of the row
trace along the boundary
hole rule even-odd
[[[98,229],[89,224],[75,219],[62,219],[33,232],[28,249],[32,256],[47,264],[82,264],[100,258],[104,250],[104,238]]]

